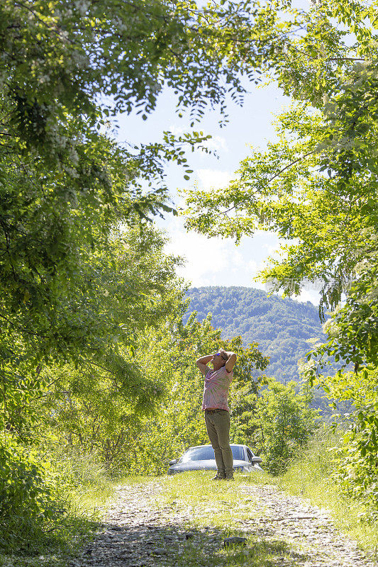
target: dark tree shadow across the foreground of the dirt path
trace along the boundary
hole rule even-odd
[[[247,537],[245,546],[225,548],[230,535]],[[286,541],[225,531],[213,527],[185,530],[174,523],[158,524],[104,523],[82,556],[70,561],[74,567],[276,567],[306,563]]]

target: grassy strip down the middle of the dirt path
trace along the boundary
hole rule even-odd
[[[211,481],[212,476],[213,471],[195,471],[162,482],[160,505],[184,512],[189,517],[184,528],[195,535],[177,556],[178,567],[274,567],[296,556],[286,541],[240,528],[240,522],[256,516],[256,500],[246,494],[245,485],[270,484],[267,474],[235,475],[230,482]],[[225,549],[223,540],[231,536],[246,537],[247,545]]]

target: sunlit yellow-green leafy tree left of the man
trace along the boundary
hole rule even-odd
[[[113,319],[112,334],[99,334],[91,354],[83,352],[76,368],[45,367],[43,395],[29,400],[23,422],[33,412],[40,429],[52,432],[63,446],[96,450],[110,464],[140,415],[153,412],[167,377],[154,363],[150,337],[169,337],[184,308],[184,291],[174,273],[178,260],[164,254],[164,245],[152,228],[141,235],[129,231],[115,243],[113,266],[102,272],[93,297],[104,318]],[[151,344],[141,357],[148,339]]]

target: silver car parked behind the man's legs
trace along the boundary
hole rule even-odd
[[[235,471],[251,473],[262,471],[260,456],[255,456],[247,445],[231,445],[233,451],[233,468]],[[184,471],[216,470],[214,450],[211,445],[190,447],[179,459],[169,461],[168,474]]]

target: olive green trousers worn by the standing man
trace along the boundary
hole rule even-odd
[[[233,453],[230,447],[230,413],[227,410],[205,410],[207,434],[214,449],[218,476],[232,478]]]

